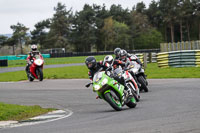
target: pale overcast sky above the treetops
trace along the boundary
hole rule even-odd
[[[39,21],[51,18],[55,13],[53,8],[58,2],[65,4],[67,10],[80,11],[84,4],[106,5],[109,9],[112,4],[120,4],[122,7],[132,9],[133,5],[143,1],[146,7],[151,0],[0,0],[0,34],[10,34],[11,25],[22,23],[30,30]]]

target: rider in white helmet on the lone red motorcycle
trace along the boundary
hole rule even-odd
[[[28,57],[26,58],[26,61],[27,61],[26,72],[27,73],[29,73],[29,67],[33,63],[32,62],[33,57],[38,54],[40,54],[40,53],[39,53],[39,51],[37,51],[37,45],[35,45],[35,44],[31,45],[31,51],[28,53]]]

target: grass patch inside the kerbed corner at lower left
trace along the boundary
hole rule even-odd
[[[24,106],[15,104],[5,104],[0,102],[0,121],[6,120],[27,120],[28,118],[45,114],[53,111],[52,108],[41,108],[38,105],[35,106]]]

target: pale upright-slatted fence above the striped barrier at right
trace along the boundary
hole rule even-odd
[[[186,42],[160,44],[160,52],[170,52],[179,50],[198,50],[198,49],[200,49],[200,41],[186,41]]]

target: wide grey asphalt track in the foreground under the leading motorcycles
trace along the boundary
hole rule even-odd
[[[0,133],[200,133],[200,79],[149,79],[134,109],[114,111],[86,79],[0,82],[0,101],[68,109],[70,117]]]

